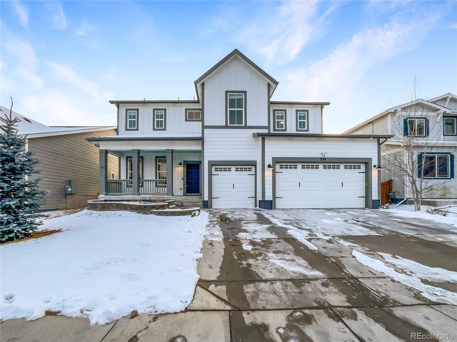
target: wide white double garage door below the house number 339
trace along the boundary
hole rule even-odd
[[[364,208],[365,164],[276,164],[276,208]]]

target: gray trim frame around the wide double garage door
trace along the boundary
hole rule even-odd
[[[372,172],[371,172],[371,158],[329,158],[323,162],[319,157],[277,157],[272,158],[271,166],[273,172],[271,174],[271,196],[273,199],[273,209],[276,209],[276,162],[278,163],[308,163],[314,162],[319,164],[325,163],[360,163],[365,164],[365,207],[372,208]]]

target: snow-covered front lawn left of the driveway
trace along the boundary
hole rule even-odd
[[[0,317],[45,310],[104,324],[133,310],[182,311],[194,295],[207,213],[191,218],[82,212],[44,221],[60,233],[1,247]]]

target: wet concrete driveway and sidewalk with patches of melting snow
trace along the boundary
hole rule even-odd
[[[106,326],[65,316],[8,320],[0,325],[0,340],[348,342],[410,341],[411,334],[457,339],[457,306],[434,300],[447,295],[456,303],[457,279],[433,272],[457,272],[455,228],[383,210],[209,214],[201,278],[186,312],[125,317]],[[415,287],[356,259],[385,264],[388,255],[398,260],[399,277]],[[418,272],[423,288],[414,283]],[[422,340],[450,340],[440,337]]]

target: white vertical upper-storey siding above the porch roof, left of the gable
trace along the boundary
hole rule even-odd
[[[166,130],[153,130],[154,124],[153,113],[156,108],[166,109]],[[186,121],[186,108],[202,108],[201,104],[195,103],[154,103],[154,104],[119,104],[119,135],[139,135],[160,133],[201,133],[201,121]],[[138,130],[125,130],[125,113],[126,109],[138,109]]]

